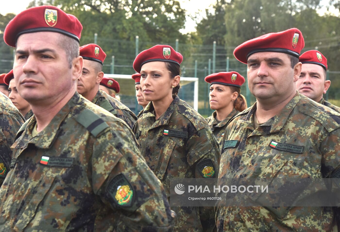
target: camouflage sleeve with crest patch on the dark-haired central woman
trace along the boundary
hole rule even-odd
[[[188,140],[188,163],[195,168],[196,178],[217,178],[220,151],[219,144],[208,128],[195,132]],[[214,207],[200,207],[200,219],[203,231],[215,228]]]

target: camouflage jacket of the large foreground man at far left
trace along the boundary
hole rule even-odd
[[[165,190],[121,119],[76,92],[32,137],[35,124],[33,115],[12,146],[2,231],[113,231],[114,212],[117,231],[173,226]]]

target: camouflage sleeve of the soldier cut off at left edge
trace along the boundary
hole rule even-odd
[[[11,165],[13,153],[11,146],[18,130],[24,123],[22,116],[16,113],[13,114],[5,112],[0,114],[0,186]]]

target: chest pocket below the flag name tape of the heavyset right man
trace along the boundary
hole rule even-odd
[[[289,210],[293,208],[291,205],[294,205],[297,199],[301,200],[305,195],[303,192],[310,183],[306,178],[310,178],[306,172],[281,155],[276,154],[258,178],[255,179],[255,185],[268,185],[268,188],[271,189],[269,189],[268,193],[254,192],[248,196],[260,205],[268,205],[268,202],[272,203],[273,206],[265,206],[265,208],[277,218],[284,219]],[[273,192],[275,194],[270,194]],[[280,205],[279,207],[277,206],[278,204]]]

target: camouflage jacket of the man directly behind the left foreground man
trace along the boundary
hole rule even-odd
[[[124,122],[126,122],[126,124],[128,124],[130,129],[132,129],[137,120],[136,115],[126,105],[100,89],[98,90],[94,99],[92,99],[92,103],[99,105],[100,107],[115,115],[117,118],[122,119]]]

